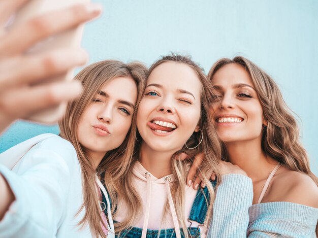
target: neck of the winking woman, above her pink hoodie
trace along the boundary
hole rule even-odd
[[[150,174],[160,179],[172,173],[171,157],[174,153],[171,151],[155,151],[142,143],[139,162]]]

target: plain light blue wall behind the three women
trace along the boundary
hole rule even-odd
[[[302,141],[318,175],[318,1],[131,0],[94,1],[103,16],[87,24],[90,62],[105,58],[147,65],[170,52],[193,56],[206,72],[221,57],[243,55],[279,84],[301,118]],[[0,152],[43,132],[17,122],[0,138]]]

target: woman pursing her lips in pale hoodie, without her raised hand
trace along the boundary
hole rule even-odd
[[[1,154],[12,169],[0,165],[12,193],[1,210],[1,237],[113,237],[96,173],[101,161],[133,153],[131,125],[146,73],[138,62],[105,60],[85,67],[75,77],[83,92],[59,122],[60,137],[39,135]]]

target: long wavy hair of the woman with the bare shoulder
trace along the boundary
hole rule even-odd
[[[297,121],[283,100],[275,81],[259,66],[250,60],[237,56],[233,59],[222,58],[215,62],[210,69],[208,79],[230,63],[237,63],[249,73],[255,90],[259,96],[263,113],[268,121],[262,130],[262,150],[266,155],[287,166],[292,171],[308,175],[318,186],[318,178],[310,171],[306,150],[299,140]],[[227,149],[222,146],[222,157],[227,159]],[[318,235],[318,226],[316,227]]]

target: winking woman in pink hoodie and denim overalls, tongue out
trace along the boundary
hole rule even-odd
[[[221,145],[209,111],[212,99],[210,82],[188,57],[170,55],[152,64],[137,112],[134,154],[103,164],[118,237],[206,236],[216,185],[209,181],[211,171],[217,184],[229,184],[219,177]],[[181,152],[208,158],[200,167],[204,189],[186,186],[192,160],[178,160]],[[245,176],[235,179],[249,183]]]

